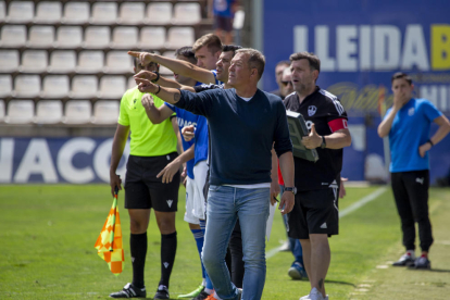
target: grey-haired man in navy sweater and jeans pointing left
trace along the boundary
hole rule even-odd
[[[146,53],[130,53],[147,62]],[[258,89],[265,59],[253,49],[240,49],[232,60],[228,84],[233,89],[193,93],[163,88],[137,79],[139,89],[154,92],[174,105],[204,115],[211,135],[211,176],[208,195],[203,263],[215,288],[214,299],[238,300],[224,258],[239,216],[246,263],[242,298],[259,300],[265,282],[265,227],[268,216],[272,147],[287,190],[279,208],[293,207],[292,143],[286,110],[279,97]]]

